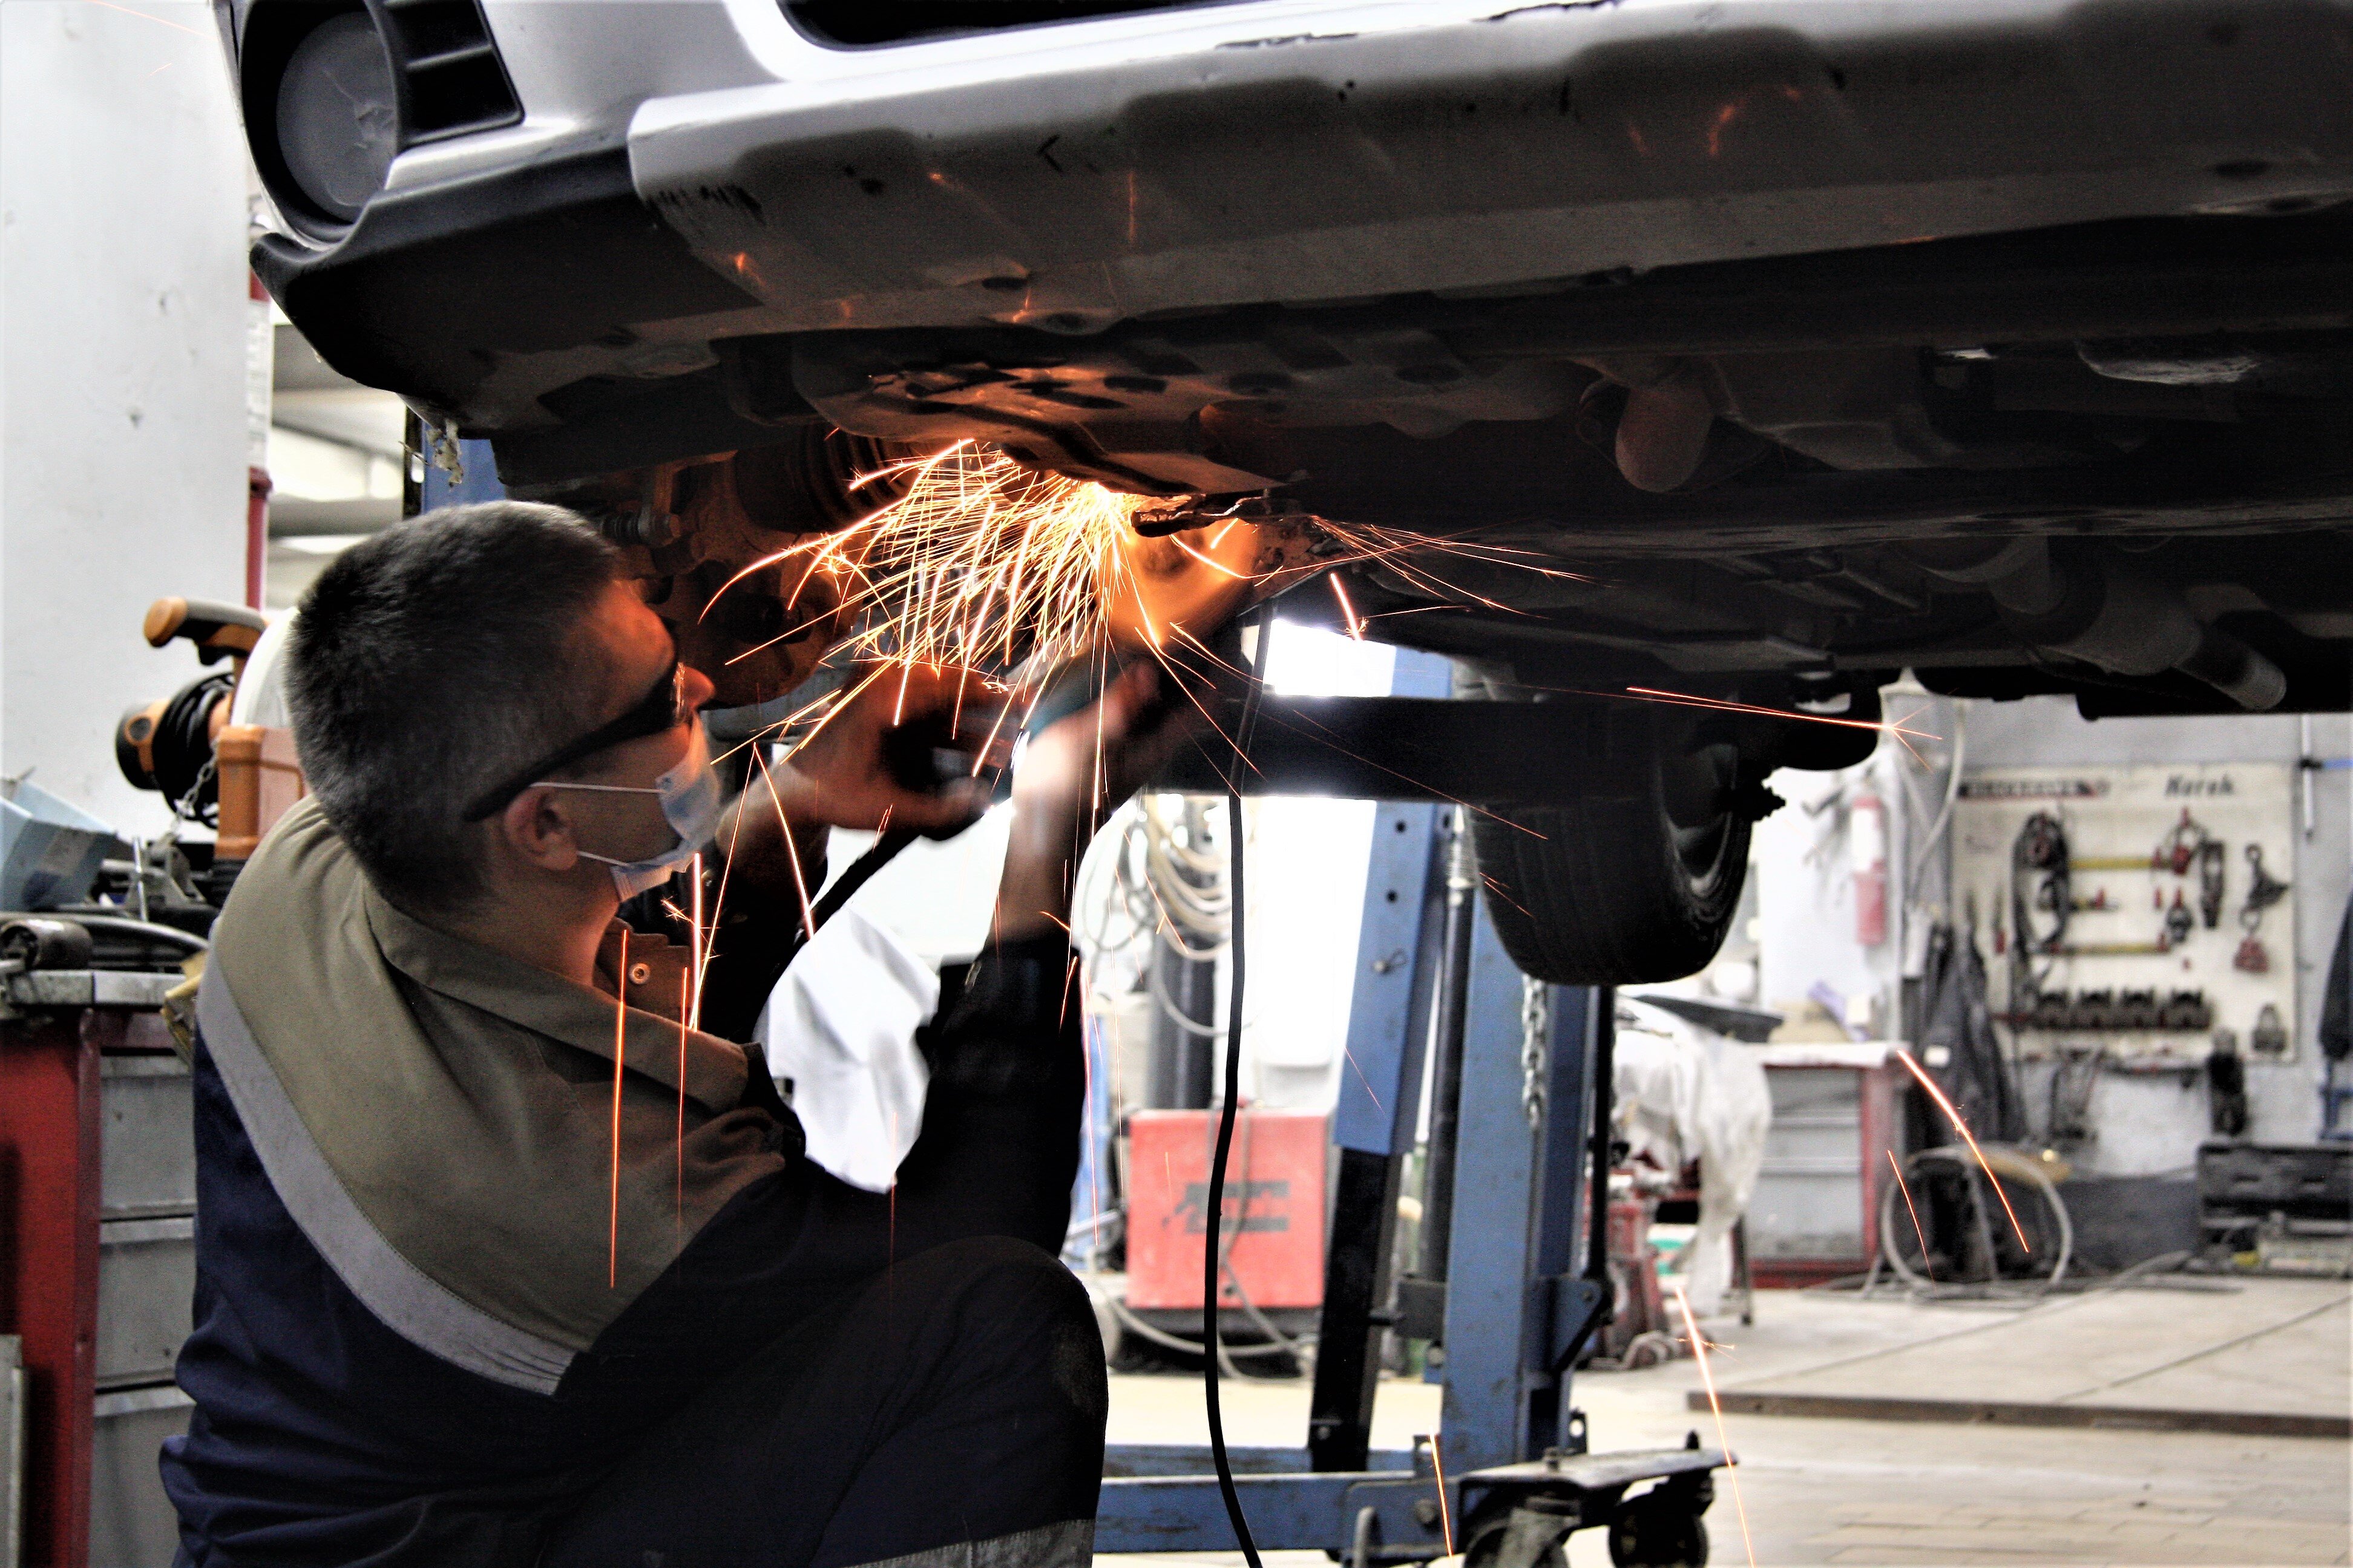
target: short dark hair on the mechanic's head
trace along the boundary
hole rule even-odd
[[[339,555],[287,637],[294,750],[376,891],[454,914],[485,891],[466,804],[600,722],[584,637],[619,552],[576,512],[452,505]]]

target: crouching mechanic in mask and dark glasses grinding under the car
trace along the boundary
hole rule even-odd
[[[969,693],[880,682],[722,830],[711,684],[602,538],[504,501],[341,555],[287,661],[313,795],[198,994],[179,1561],[1085,1563],[1068,882],[1179,738],[1153,677],[1026,748],[991,947],[925,1027],[922,1131],[875,1194],[802,1157],[758,1048],[661,994],[624,1011],[598,952],[713,839],[776,889],[786,835],[969,823],[969,788],[882,766],[958,696],[986,729]]]

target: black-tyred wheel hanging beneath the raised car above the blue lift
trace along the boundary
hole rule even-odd
[[[1504,950],[1553,985],[1678,980],[1715,957],[1748,875],[1741,752],[1692,745],[1628,703],[1560,766],[1560,806],[1478,811],[1471,837]]]

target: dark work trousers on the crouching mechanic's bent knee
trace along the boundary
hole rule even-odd
[[[541,1566],[847,1568],[1092,1521],[1106,1399],[1085,1286],[1028,1241],[948,1241],[656,1427]]]

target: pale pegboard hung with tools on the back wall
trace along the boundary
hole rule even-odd
[[[1962,778],[1955,912],[2024,1056],[2294,1058],[2292,773],[2233,762]]]

